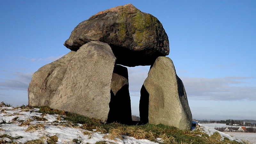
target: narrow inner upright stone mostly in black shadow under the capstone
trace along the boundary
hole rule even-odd
[[[132,122],[131,99],[129,94],[128,70],[115,65],[111,79],[111,99],[109,103],[108,123]]]

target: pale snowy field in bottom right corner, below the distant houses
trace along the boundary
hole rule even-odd
[[[249,132],[224,132],[234,138],[240,140],[248,140],[251,144],[256,144],[256,133],[249,133]]]

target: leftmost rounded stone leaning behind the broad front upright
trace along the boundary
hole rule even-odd
[[[50,100],[66,73],[68,62],[76,52],[71,51],[59,60],[39,68],[32,76],[28,87],[28,104],[49,106]]]

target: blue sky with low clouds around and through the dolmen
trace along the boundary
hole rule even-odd
[[[0,1],[0,101],[28,104],[40,67],[69,52],[71,31],[97,12],[131,3],[170,41],[193,118],[256,120],[256,1]],[[129,68],[132,113],[148,67]]]

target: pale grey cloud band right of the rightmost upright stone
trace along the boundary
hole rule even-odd
[[[229,101],[256,100],[256,87],[247,86],[249,82],[243,81],[252,79],[252,77],[181,77],[181,79],[190,99]]]

